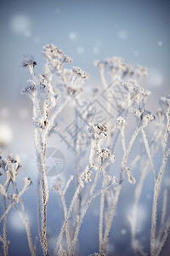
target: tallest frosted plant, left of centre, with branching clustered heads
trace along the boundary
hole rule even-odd
[[[46,67],[44,73],[39,77],[35,74],[34,68],[37,62],[32,55],[24,55],[22,67],[28,67],[31,73],[31,79],[26,83],[22,93],[31,98],[33,105],[33,125],[34,142],[37,154],[37,167],[39,171],[38,179],[38,200],[39,208],[39,236],[42,244],[43,254],[48,255],[47,243],[47,206],[48,206],[48,177],[45,162],[46,139],[49,132],[54,127],[54,120],[65,107],[65,104],[76,97],[81,91],[81,84],[88,78],[88,74],[78,67],[72,70],[65,70],[64,65],[71,62],[71,58],[63,55],[63,51],[54,44],[47,44],[43,47],[43,55],[46,58]],[[58,82],[63,83],[66,88],[67,97],[59,102],[59,95],[55,93],[56,87],[52,83],[54,73]],[[66,73],[66,75],[65,75]],[[74,85],[76,84],[76,85]]]

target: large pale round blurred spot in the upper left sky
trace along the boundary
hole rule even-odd
[[[14,32],[24,33],[29,31],[31,27],[31,20],[26,15],[16,15],[11,20],[11,28]]]

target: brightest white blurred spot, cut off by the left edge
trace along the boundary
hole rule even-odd
[[[5,147],[11,143],[13,138],[12,131],[8,125],[0,125],[0,146]]]

